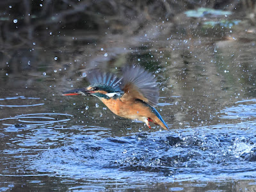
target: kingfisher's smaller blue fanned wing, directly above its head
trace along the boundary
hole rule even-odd
[[[86,71],[86,77],[90,84],[106,84],[113,88],[115,92],[122,92],[120,88],[121,79],[114,74],[102,72],[99,68],[92,68]]]

